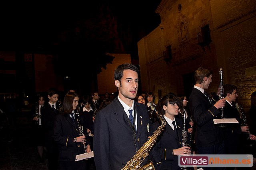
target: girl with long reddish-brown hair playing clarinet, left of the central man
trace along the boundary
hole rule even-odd
[[[86,128],[81,129],[82,127],[79,127],[83,124],[83,118],[78,118],[75,115],[78,101],[79,97],[76,93],[67,93],[60,114],[56,116],[54,122],[53,137],[58,144],[58,166],[60,170],[90,170],[86,169],[86,160],[75,161],[76,155],[91,152],[88,132]]]

